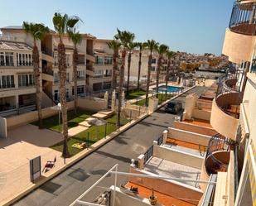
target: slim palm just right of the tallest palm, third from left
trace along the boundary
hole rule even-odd
[[[77,65],[78,65],[78,51],[77,45],[79,45],[82,41],[82,36],[79,31],[75,31],[74,29],[70,29],[68,31],[68,35],[70,40],[74,44],[74,53],[73,53],[73,76],[74,76],[74,110],[75,114],[77,112]]]

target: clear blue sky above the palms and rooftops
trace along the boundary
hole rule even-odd
[[[80,31],[113,38],[116,28],[136,41],[154,39],[172,50],[220,54],[234,0],[1,0],[0,27],[23,21],[52,26],[54,12],[77,15]]]

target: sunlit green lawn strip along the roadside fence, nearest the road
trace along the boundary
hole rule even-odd
[[[111,134],[112,132],[116,131],[118,127],[116,126],[116,121],[117,121],[117,115],[114,115],[113,117],[109,117],[106,119],[107,121],[107,129],[106,129],[106,135]],[[121,116],[121,124],[122,126],[128,123],[128,119],[124,117],[123,115]],[[89,136],[88,136],[89,133]],[[88,139],[89,137],[89,139]],[[82,149],[77,149],[72,147],[73,144],[75,143],[81,143],[81,142],[88,142],[89,141],[89,146],[94,144],[96,141],[99,141],[100,139],[105,137],[105,126],[93,126],[89,127],[85,132],[80,132],[74,137],[70,137],[68,141],[68,148],[71,156],[74,156],[78,152],[82,151]],[[57,143],[54,146],[51,146],[51,149],[54,149],[56,151],[62,151],[62,141]]]

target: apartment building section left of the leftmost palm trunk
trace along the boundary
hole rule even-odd
[[[17,26],[2,28],[0,38],[0,115],[36,108],[32,67],[33,39]],[[40,42],[36,42],[41,48]]]

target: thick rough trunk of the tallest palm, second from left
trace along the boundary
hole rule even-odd
[[[62,124],[63,124],[63,151],[62,156],[69,157],[69,151],[67,146],[68,141],[68,122],[67,122],[67,105],[66,105],[66,59],[65,59],[65,46],[60,38],[60,43],[58,45],[58,62],[59,62],[59,75],[60,75],[60,104],[61,104],[61,114],[62,114]]]

